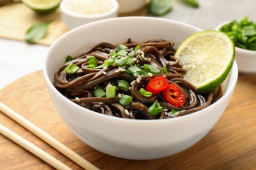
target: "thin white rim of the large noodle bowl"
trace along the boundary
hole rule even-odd
[[[49,85],[49,87],[51,89],[53,89],[53,92],[56,93],[56,95],[62,97],[65,101],[67,101],[68,103],[70,103],[70,105],[73,105],[74,107],[80,107],[80,109],[85,110],[85,112],[87,112],[87,114],[95,114],[95,116],[99,116],[99,117],[104,117],[106,119],[110,119],[110,120],[117,120],[117,121],[123,121],[123,122],[133,122],[133,123],[138,123],[138,124],[158,124],[159,122],[171,122],[171,121],[175,121],[177,119],[184,119],[184,118],[189,118],[191,116],[197,116],[198,114],[202,114],[202,112],[204,110],[207,109],[211,109],[211,107],[214,107],[215,105],[218,105],[219,103],[223,103],[223,101],[225,101],[226,99],[228,99],[229,96],[232,95],[232,92],[236,86],[236,82],[238,79],[238,65],[236,63],[236,61],[234,61],[233,65],[232,65],[232,69],[230,70],[229,74],[232,74],[232,77],[234,77],[232,80],[230,79],[228,81],[228,84],[231,84],[230,87],[228,89],[226,89],[226,92],[223,94],[223,96],[221,96],[221,98],[217,101],[215,101],[215,103],[209,105],[208,107],[202,109],[202,110],[198,110],[196,112],[193,112],[191,114],[186,114],[184,116],[178,116],[175,118],[166,118],[166,119],[158,119],[158,120],[137,120],[137,119],[127,119],[127,118],[119,118],[116,116],[108,116],[105,114],[100,114],[98,112],[95,112],[93,110],[90,109],[86,109],[84,107],[81,107],[79,105],[77,105],[76,103],[70,101],[70,99],[66,98],[64,95],[62,95],[62,93],[58,92],[58,90],[53,86],[53,82],[51,82],[48,73],[47,73],[47,62],[49,60],[49,54],[51,53],[51,51],[53,50],[54,46],[58,45],[58,42],[61,41],[63,39],[63,37],[66,37],[67,35],[72,34],[74,31],[79,31],[79,29],[83,29],[83,27],[91,27],[93,25],[97,25],[100,23],[104,23],[104,22],[109,22],[109,21],[116,21],[116,20],[133,20],[133,19],[140,19],[140,20],[161,20],[161,21],[165,21],[165,22],[173,22],[175,24],[181,24],[181,25],[186,25],[189,27],[194,27],[193,25],[189,25],[183,22],[179,22],[176,20],[169,20],[169,19],[165,19],[165,18],[154,18],[154,17],[148,17],[148,16],[131,16],[131,17],[125,17],[125,18],[109,18],[106,20],[99,20],[96,22],[91,22],[89,24],[85,24],[85,25],[81,25],[79,27],[76,27],[75,29],[72,29],[70,31],[68,31],[67,33],[65,33],[64,35],[62,35],[59,39],[57,39],[49,48],[47,55],[45,57],[45,62],[43,65],[43,75],[45,76],[46,82]],[[199,29],[198,27],[194,27],[198,30],[203,31],[202,29]],[[58,69],[58,68],[56,68]],[[207,114],[207,113],[206,113]]]

